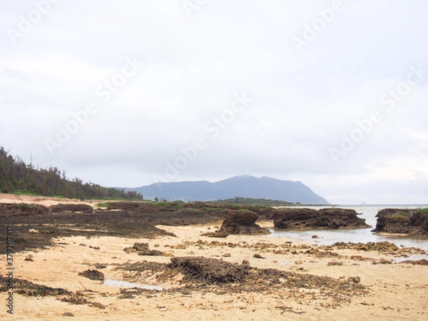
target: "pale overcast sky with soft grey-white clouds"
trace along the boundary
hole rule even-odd
[[[106,186],[428,203],[425,0],[4,0],[0,146]]]

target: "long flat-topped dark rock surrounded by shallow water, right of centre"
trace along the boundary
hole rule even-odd
[[[342,208],[285,208],[276,210],[273,217],[275,228],[286,229],[354,229],[369,228],[364,218],[358,218],[357,212]]]

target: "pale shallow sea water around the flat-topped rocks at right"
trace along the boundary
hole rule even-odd
[[[331,208],[332,206],[301,206],[301,208]],[[387,241],[394,243],[399,247],[406,248],[422,248],[428,251],[428,237],[409,237],[409,236],[384,236],[376,235],[371,232],[376,226],[375,216],[379,210],[384,208],[428,208],[428,205],[337,205],[336,208],[350,208],[359,213],[360,218],[365,218],[366,223],[371,225],[370,228],[358,230],[280,230],[276,228],[270,229],[271,236],[279,236],[291,238],[292,240],[301,240],[317,245],[332,245],[336,242],[382,242]],[[317,238],[312,238],[312,235],[317,235]],[[414,259],[426,258],[428,255],[417,255]],[[412,258],[413,259],[413,258]]]

